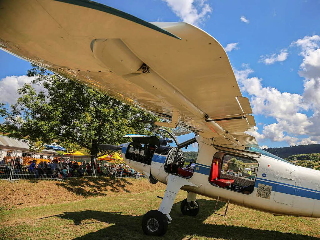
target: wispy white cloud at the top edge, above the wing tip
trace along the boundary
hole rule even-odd
[[[207,0],[163,0],[184,22],[194,25],[203,23],[212,12]]]

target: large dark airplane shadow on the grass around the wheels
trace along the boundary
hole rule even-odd
[[[212,225],[203,223],[212,213],[216,201],[198,200],[200,212],[196,217],[183,216],[180,212],[180,204],[176,203],[170,213],[173,221],[168,226],[168,231],[163,237],[145,236],[141,229],[142,216],[122,215],[122,212],[80,211],[65,212],[58,215],[62,219],[73,220],[75,225],[81,225],[83,220],[96,220],[111,224],[107,228],[75,238],[74,240],[100,240],[100,239],[192,239],[193,236],[209,238],[226,238],[240,240],[270,240],[270,239],[319,239],[300,234],[283,233],[273,230],[259,230],[247,227],[228,225]],[[141,203],[142,204],[142,203]],[[218,209],[224,203],[219,204]],[[218,217],[218,216],[217,216]],[[91,222],[91,221],[90,221]],[[88,224],[88,223],[85,223]],[[84,225],[85,226],[85,225]],[[186,238],[186,236],[188,236]]]

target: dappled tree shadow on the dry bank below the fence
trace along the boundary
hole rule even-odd
[[[124,178],[105,178],[105,177],[87,177],[87,178],[70,178],[56,185],[66,188],[69,192],[84,197],[90,196],[107,196],[106,192],[127,192],[128,185],[131,182]]]

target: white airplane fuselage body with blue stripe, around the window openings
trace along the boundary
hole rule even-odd
[[[269,212],[275,215],[290,215],[320,218],[320,171],[300,167],[285,160],[261,155],[255,159],[258,171],[251,194],[231,191],[227,188],[212,186],[209,182],[212,157],[218,152],[210,142],[198,136],[199,152],[195,170],[191,178],[186,179],[197,187],[183,186],[181,189],[203,196],[228,201],[239,206]],[[147,177],[152,174],[156,180],[167,184],[169,173],[165,172],[164,164],[168,155],[154,154],[150,165],[125,158],[127,145],[122,148],[122,155],[127,165]],[[176,176],[176,178],[180,178]],[[266,186],[271,193],[266,196],[258,194],[258,188]]]

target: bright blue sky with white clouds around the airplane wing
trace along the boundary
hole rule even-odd
[[[216,38],[251,100],[260,146],[320,143],[320,1],[98,2],[146,21],[187,21]],[[12,76],[29,68],[0,51],[0,102],[14,101],[14,91],[29,80]]]

